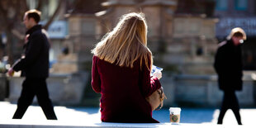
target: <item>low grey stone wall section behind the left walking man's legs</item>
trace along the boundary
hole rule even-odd
[[[89,73],[51,74],[50,78],[47,78],[51,101],[57,105],[78,104],[82,100],[88,77]],[[23,80],[21,77],[9,78],[10,102],[17,102],[20,97]],[[33,102],[37,102],[36,98]]]

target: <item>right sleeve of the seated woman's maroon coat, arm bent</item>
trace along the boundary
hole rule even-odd
[[[161,88],[161,83],[159,82],[159,79],[156,77],[150,77],[150,71],[146,67],[145,62],[144,66],[142,68],[142,95],[144,97],[149,97],[154,91]],[[149,65],[151,62],[149,61]]]

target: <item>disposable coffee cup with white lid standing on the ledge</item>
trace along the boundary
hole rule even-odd
[[[170,122],[172,124],[179,124],[181,108],[180,107],[170,107]]]

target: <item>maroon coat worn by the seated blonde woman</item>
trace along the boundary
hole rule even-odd
[[[97,56],[92,58],[92,88],[101,92],[102,121],[156,123],[152,108],[145,100],[161,87],[158,78],[150,78],[145,64],[140,61],[134,68],[120,67]]]

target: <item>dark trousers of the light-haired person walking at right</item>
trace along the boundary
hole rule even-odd
[[[234,112],[236,121],[238,122],[239,125],[242,125],[241,117],[239,114],[239,103],[235,95],[235,91],[224,91],[224,98],[222,101],[222,106],[220,108],[218,124],[222,124],[223,117],[225,116],[225,112],[228,109],[231,109]]]

